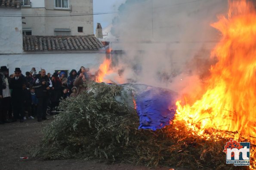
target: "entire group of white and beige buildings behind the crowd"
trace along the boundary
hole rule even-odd
[[[7,66],[9,74],[16,67],[24,74],[32,67],[50,73],[80,66],[98,70],[105,54],[99,53],[103,45],[93,35],[93,15],[48,17],[92,12],[92,0],[0,0],[1,66]],[[71,34],[59,30],[62,34],[56,35],[55,29]]]

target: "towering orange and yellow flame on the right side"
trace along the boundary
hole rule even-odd
[[[197,101],[177,101],[176,120],[201,136],[208,129],[237,131],[256,143],[256,12],[246,0],[229,6],[227,17],[212,24],[222,39],[211,54],[218,62],[206,92]]]

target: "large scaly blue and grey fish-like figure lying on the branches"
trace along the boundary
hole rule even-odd
[[[116,96],[116,100],[133,107],[133,99],[135,99],[136,111],[139,115],[139,129],[155,131],[170,125],[176,113],[177,92],[137,83],[120,85],[123,86],[121,95],[123,97]]]

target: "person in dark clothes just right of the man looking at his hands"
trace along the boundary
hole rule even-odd
[[[57,73],[52,75],[52,93],[51,93],[51,112],[59,106],[59,100],[62,96],[62,81]]]

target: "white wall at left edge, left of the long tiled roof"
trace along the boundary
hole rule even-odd
[[[5,15],[21,15],[21,9],[0,8]],[[22,53],[22,18],[0,17],[0,54]]]

